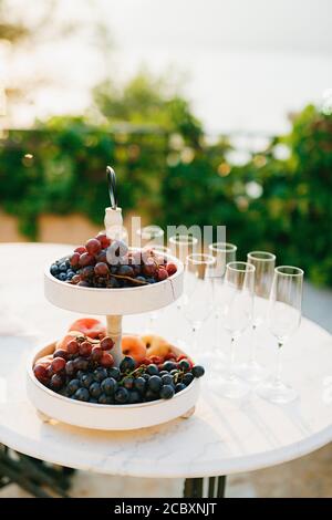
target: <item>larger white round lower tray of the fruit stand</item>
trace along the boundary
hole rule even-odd
[[[184,416],[195,406],[199,395],[199,381],[194,379],[186,389],[172,399],[159,399],[137,405],[96,405],[64,397],[42,385],[32,371],[33,363],[54,351],[55,343],[34,352],[28,361],[27,392],[31,403],[46,416],[83,428],[126,430],[156,426]],[[176,353],[183,352],[174,349]]]

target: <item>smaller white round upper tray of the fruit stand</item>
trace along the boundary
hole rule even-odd
[[[166,256],[177,272],[162,282],[123,289],[95,289],[61,282],[44,271],[44,293],[54,305],[86,314],[138,314],[169,305],[183,293],[184,266],[175,257]]]

